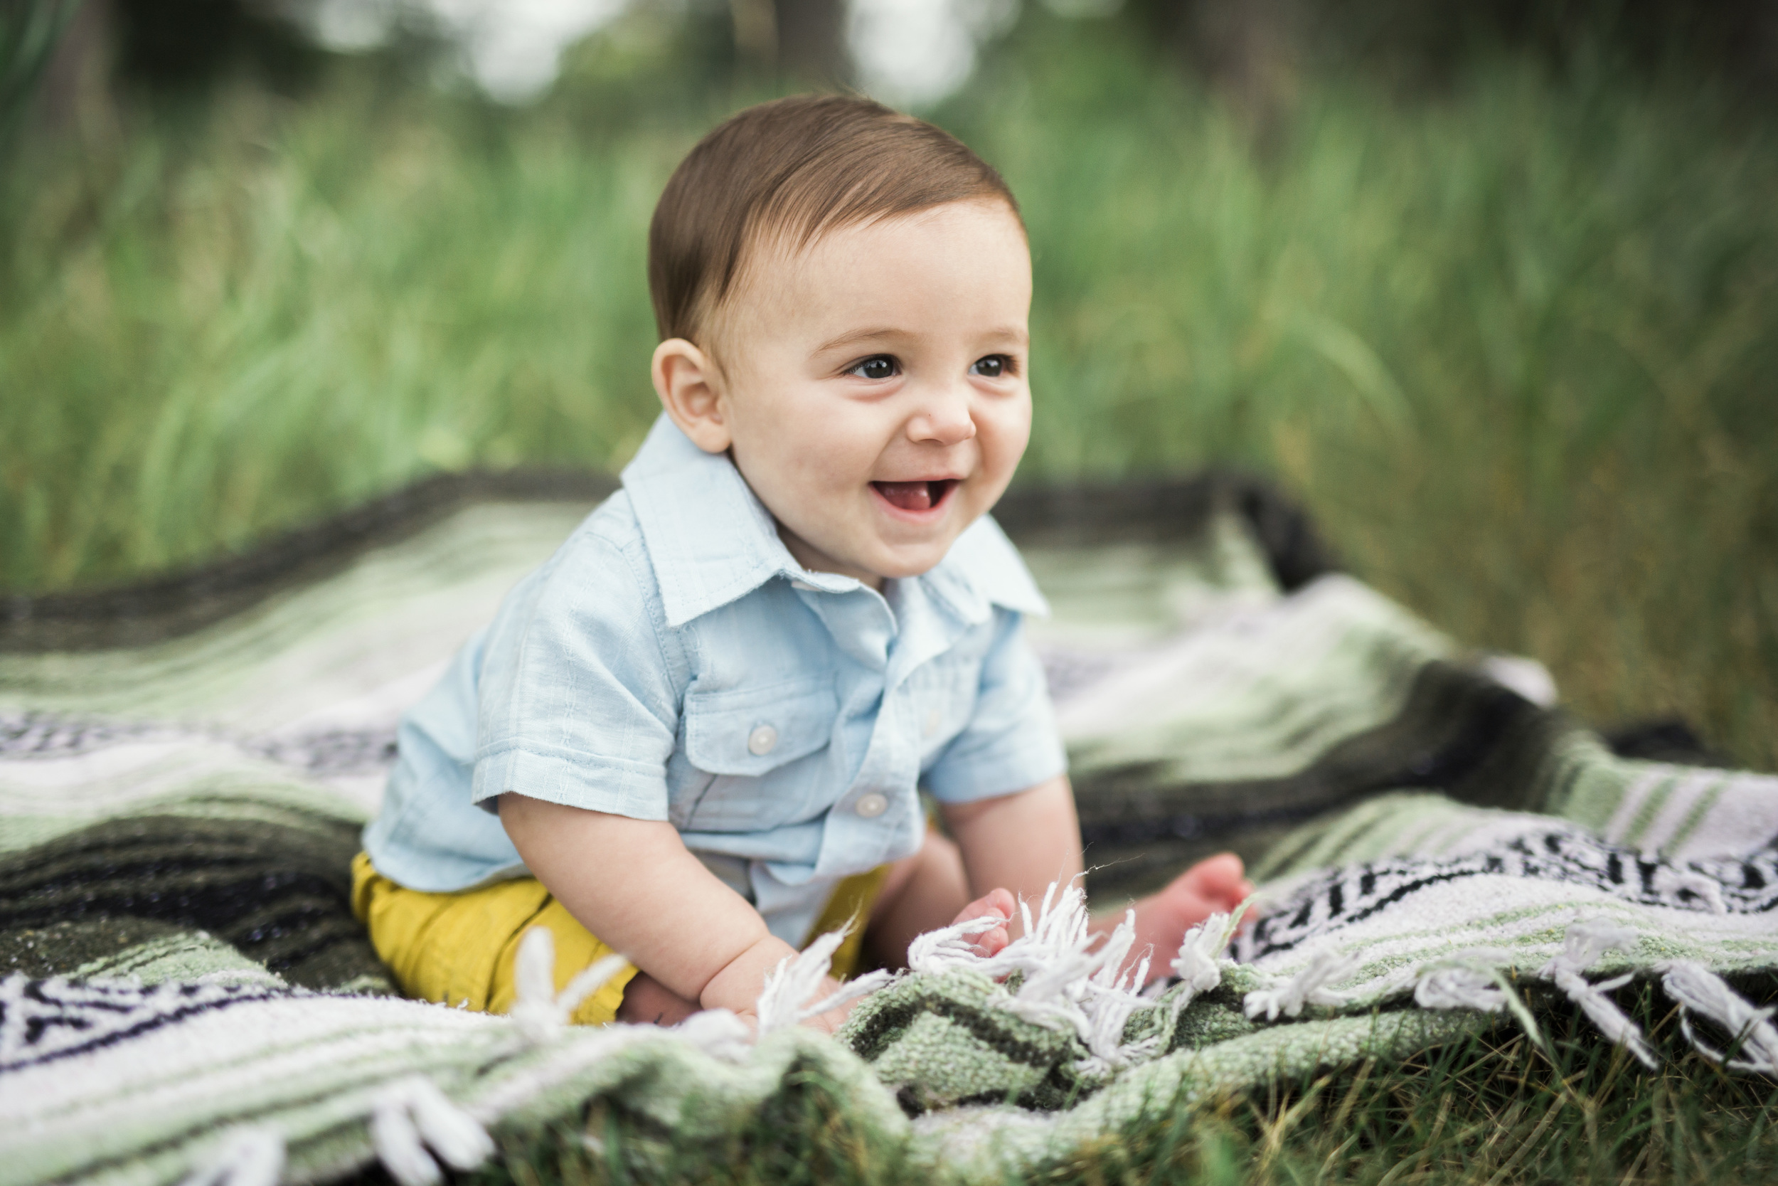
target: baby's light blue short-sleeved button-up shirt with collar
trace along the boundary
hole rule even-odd
[[[1063,772],[1021,626],[1047,606],[990,517],[877,592],[800,567],[665,416],[622,478],[402,718],[364,830],[384,877],[525,875],[494,813],[517,791],[670,821],[802,944],[839,878],[919,848],[919,786],[967,802]]]

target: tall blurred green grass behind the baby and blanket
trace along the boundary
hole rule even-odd
[[[0,583],[201,560],[441,468],[619,466],[654,414],[653,201],[765,98],[637,100],[663,44],[621,25],[525,112],[340,69],[28,146]],[[1127,28],[1037,12],[933,112],[1031,229],[1022,480],[1277,473],[1360,576],[1582,715],[1778,766],[1773,123],[1588,55],[1310,75],[1289,112],[1257,149]]]

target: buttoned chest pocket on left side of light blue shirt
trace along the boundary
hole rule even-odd
[[[759,777],[807,757],[834,736],[832,677],[685,697],[685,756],[708,773]]]

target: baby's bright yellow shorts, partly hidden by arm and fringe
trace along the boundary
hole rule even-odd
[[[859,964],[864,919],[882,891],[889,866],[857,873],[834,887],[809,937],[823,935],[857,919],[834,953],[834,974],[845,980]],[[352,857],[352,912],[370,930],[370,942],[402,992],[420,1001],[462,1005],[484,1014],[505,1014],[517,999],[514,960],[519,941],[532,926],[548,926],[555,937],[557,990],[576,973],[612,953],[535,877],[494,882],[453,894],[428,894],[396,885],[370,864],[370,855]],[[635,966],[608,980],[574,1010],[574,1024],[603,1026],[617,1019],[624,987]]]

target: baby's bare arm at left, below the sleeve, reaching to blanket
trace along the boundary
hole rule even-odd
[[[752,1014],[766,973],[795,955],[667,821],[516,793],[500,797],[500,821],[569,914],[688,1001]]]

